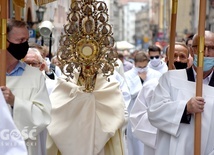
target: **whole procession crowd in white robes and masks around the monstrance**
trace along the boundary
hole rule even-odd
[[[197,34],[175,42],[172,70],[169,45],[132,57],[118,52],[110,82],[97,74],[92,93],[78,85],[78,72],[68,82],[57,56],[49,60],[47,49],[28,39],[27,24],[9,19],[0,154],[193,155],[196,113],[201,155],[214,154],[213,32],[205,31],[202,96],[195,95]]]

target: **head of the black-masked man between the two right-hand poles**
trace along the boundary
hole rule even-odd
[[[169,62],[169,46],[166,48],[165,61]],[[174,69],[185,69],[189,63],[189,48],[182,42],[175,42]]]

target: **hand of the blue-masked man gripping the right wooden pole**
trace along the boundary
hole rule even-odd
[[[203,97],[192,97],[188,102],[187,102],[187,112],[190,114],[195,114],[198,112],[203,112],[204,111],[204,98]]]

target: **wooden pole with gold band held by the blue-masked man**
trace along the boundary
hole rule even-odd
[[[203,59],[204,59],[204,32],[206,18],[206,1],[200,0],[199,6],[199,22],[198,22],[198,64],[196,79],[196,96],[202,96],[203,87]],[[195,114],[195,141],[194,154],[201,154],[201,113]]]

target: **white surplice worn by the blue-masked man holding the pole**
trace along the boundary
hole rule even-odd
[[[163,74],[148,109],[149,120],[158,128],[156,155],[194,154],[194,115],[181,123],[187,102],[195,96],[196,83],[187,81],[186,70]],[[203,85],[205,99],[201,126],[201,155],[214,155],[214,88]]]

